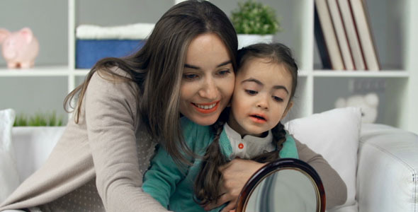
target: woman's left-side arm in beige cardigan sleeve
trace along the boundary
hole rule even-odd
[[[136,89],[133,83],[107,81],[94,73],[86,90],[86,125],[96,187],[106,211],[167,211],[141,189]]]

